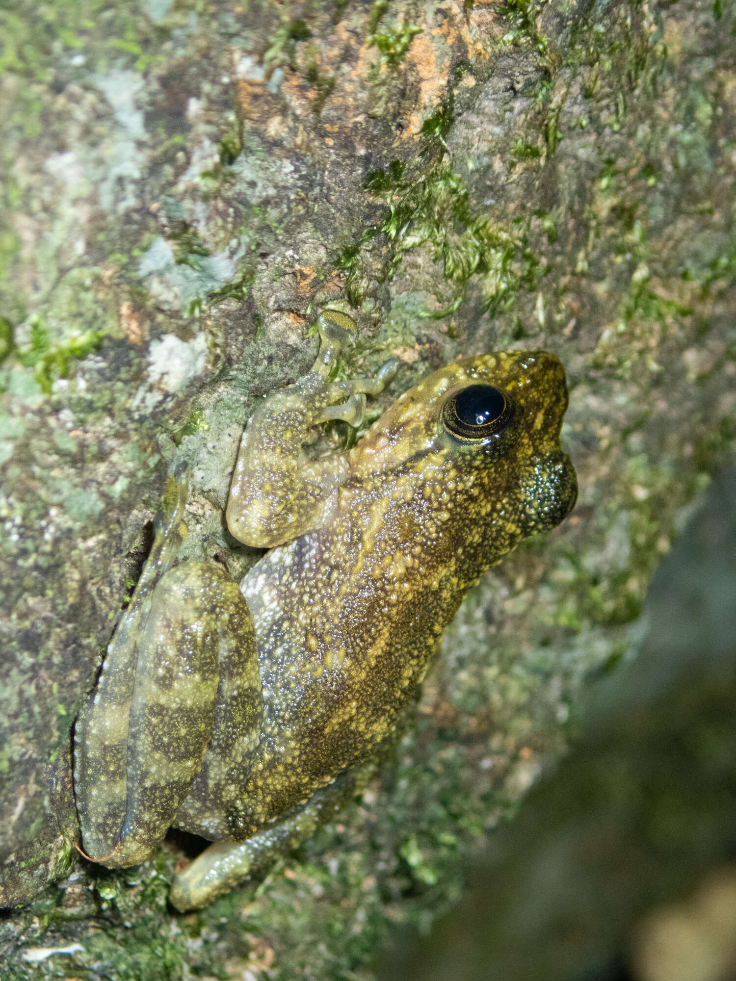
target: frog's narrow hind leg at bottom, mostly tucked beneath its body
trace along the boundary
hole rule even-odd
[[[370,760],[344,770],[310,800],[276,824],[247,841],[215,842],[174,879],[169,902],[177,909],[199,909],[246,879],[266,875],[278,858],[293,851],[327,824],[369,782],[375,769]]]

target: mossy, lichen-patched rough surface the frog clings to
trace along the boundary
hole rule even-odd
[[[368,977],[387,921],[455,901],[732,458],[735,29],[731,0],[2,7],[0,861],[35,897],[4,977]],[[468,598],[342,823],[174,916],[181,839],[73,861],[70,730],[177,447],[188,554],[257,557],[223,528],[237,441],[327,303],[343,373],[401,358],[383,405],[458,355],[557,353],[580,500]]]

